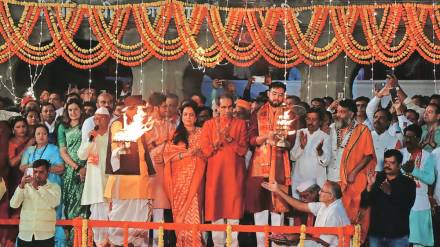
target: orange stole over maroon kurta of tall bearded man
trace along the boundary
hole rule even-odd
[[[257,112],[258,134],[265,135],[269,131],[276,130],[280,115],[283,115],[282,108],[273,108],[269,103],[264,104]],[[281,168],[283,171],[277,168]],[[250,173],[253,177],[265,177],[269,178],[269,182],[281,183],[281,189],[287,192],[288,185],[291,184],[288,151],[281,150],[268,143],[257,146],[253,155]],[[287,212],[289,210],[287,203],[273,193],[272,204],[275,212]]]

